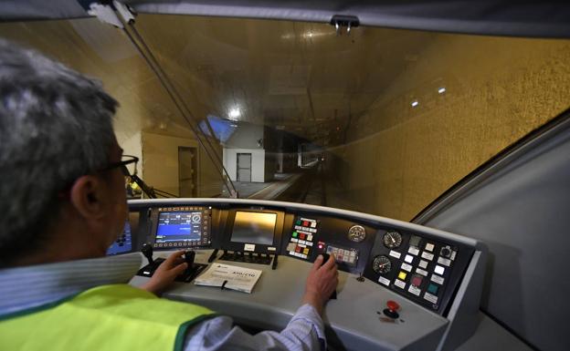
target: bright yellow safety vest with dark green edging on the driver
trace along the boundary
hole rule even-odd
[[[0,350],[181,350],[188,327],[212,316],[206,307],[160,299],[131,285],[102,285],[0,317]]]

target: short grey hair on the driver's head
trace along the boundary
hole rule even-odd
[[[59,194],[109,163],[117,105],[99,83],[0,39],[0,267],[48,240]]]

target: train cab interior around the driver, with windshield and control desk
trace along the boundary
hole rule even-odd
[[[0,37],[119,101],[130,284],[185,250],[164,298],[279,331],[332,254],[330,350],[567,349],[570,5],[40,3]]]

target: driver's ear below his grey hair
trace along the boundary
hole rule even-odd
[[[84,175],[75,181],[70,191],[71,205],[87,219],[104,216],[104,187],[100,178]]]

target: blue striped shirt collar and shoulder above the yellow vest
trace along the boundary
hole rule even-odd
[[[142,255],[47,263],[0,270],[0,315],[58,301],[91,287],[128,283]]]

